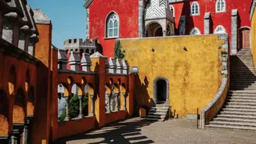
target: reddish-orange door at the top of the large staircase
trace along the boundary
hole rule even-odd
[[[240,47],[239,49],[251,49],[251,29],[250,27],[240,28]]]

